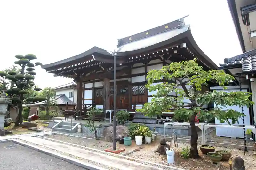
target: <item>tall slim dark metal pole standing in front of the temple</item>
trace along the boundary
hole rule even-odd
[[[116,150],[116,126],[117,126],[117,121],[116,121],[116,51],[114,51],[113,54],[113,59],[114,59],[114,77],[113,77],[113,89],[114,89],[114,117],[113,117],[113,150]]]

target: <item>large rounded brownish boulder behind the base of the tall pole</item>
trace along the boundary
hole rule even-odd
[[[116,127],[116,138],[117,139],[122,136],[127,136],[128,133],[129,133],[129,130],[126,126],[118,125]],[[108,127],[104,128],[103,137],[104,137],[105,141],[113,142],[113,126],[108,126]]]

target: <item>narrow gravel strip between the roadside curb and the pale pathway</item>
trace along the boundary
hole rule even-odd
[[[38,144],[34,144],[34,143],[31,143],[31,142],[27,142],[27,141],[24,141],[24,140],[21,140],[21,139],[18,139],[19,141],[23,142],[23,143],[27,143],[27,144],[30,144],[30,145],[33,145],[33,146],[37,146],[37,147],[40,147],[40,148],[43,148],[43,149],[46,149],[46,150],[49,150],[49,148],[47,147],[44,147],[44,146],[41,146],[41,145],[38,145]],[[80,158],[80,157],[76,157],[74,155],[71,155],[71,154],[67,154],[67,153],[64,153],[64,152],[60,152],[58,150],[53,150],[51,149],[51,151],[53,152],[56,152],[56,153],[59,153],[59,154],[62,154],[62,155],[65,155],[65,156],[68,156],[70,158],[74,158],[74,159],[77,159],[77,160],[80,160],[80,161],[83,161],[85,163],[88,163],[88,164],[92,164],[94,166],[99,166],[101,168],[104,168],[104,169],[109,169],[109,170],[119,170],[117,168],[113,168],[113,167],[110,167],[110,166],[106,166],[106,165],[103,165],[103,164],[99,164],[97,162],[94,162],[94,161],[89,161],[87,159],[83,159],[83,158]],[[54,158],[54,157],[53,157]],[[59,159],[60,160],[60,159]],[[1,167],[1,166],[0,166]],[[2,169],[1,169],[2,170]],[[6,169],[7,170],[7,169]],[[9,169],[8,169],[9,170]],[[18,170],[18,169],[15,169],[15,170]],[[24,170],[24,169],[20,169],[20,170]],[[29,169],[26,169],[26,170],[29,170]],[[34,170],[34,169],[31,169],[31,170]],[[37,170],[37,169],[35,169]],[[44,169],[38,169],[38,170],[44,170]],[[49,169],[45,169],[45,170],[49,170]],[[55,170],[55,169],[50,169],[50,170]],[[57,169],[56,169],[57,170]],[[58,169],[58,170],[63,170],[63,169]],[[65,169],[64,169],[65,170]],[[67,169],[68,170],[68,169]],[[70,170],[73,170],[73,169],[70,169]],[[76,169],[74,169],[76,170]],[[80,169],[77,169],[77,170],[80,170]],[[84,170],[84,168],[82,168],[81,170]]]

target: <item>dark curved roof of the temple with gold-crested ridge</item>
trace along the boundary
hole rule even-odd
[[[180,40],[183,40],[183,42]],[[191,34],[190,26],[184,24],[183,18],[132,36],[119,39],[116,57],[117,60],[119,58],[120,60],[117,61],[117,63],[123,63],[127,56],[130,57],[131,55],[140,55],[144,52],[168,47],[170,44],[175,45],[175,43],[177,43],[176,45],[180,45],[181,43],[187,44],[190,49],[193,49],[196,52],[195,54],[199,60],[203,60],[211,69],[219,69],[219,67],[213,63],[212,60],[207,57],[198,47]],[[112,54],[107,50],[99,47],[93,47],[79,55],[61,60],[59,62],[45,64],[41,67],[44,69],[51,69],[57,65],[62,65],[65,63],[68,64],[74,60],[82,59],[83,57],[89,55],[93,56],[93,60],[98,60],[101,62],[111,63],[113,60]]]

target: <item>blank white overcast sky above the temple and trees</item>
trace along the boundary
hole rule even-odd
[[[0,1],[0,70],[17,54],[32,53],[48,64],[93,46],[112,50],[118,38],[188,14],[186,24],[214,63],[242,53],[226,0],[6,0]],[[36,73],[40,88],[72,82],[40,66]]]

